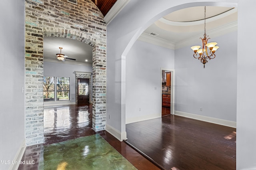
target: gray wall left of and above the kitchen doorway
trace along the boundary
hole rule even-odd
[[[174,69],[174,50],[134,43],[126,56],[126,123],[161,117],[161,67]]]

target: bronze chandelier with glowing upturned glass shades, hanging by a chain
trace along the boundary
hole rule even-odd
[[[204,38],[201,38],[202,40],[202,48],[199,49],[201,46],[196,45],[191,47],[191,49],[194,51],[194,58],[199,59],[201,61],[201,63],[203,63],[204,65],[208,62],[207,59],[214,59],[215,58],[215,51],[219,48],[218,46],[215,46],[217,43],[216,42],[211,42],[211,43],[207,43],[207,41],[210,38],[207,38],[208,36],[206,36],[206,31],[205,31],[205,26],[206,26],[206,7],[204,6]],[[209,53],[208,53],[208,50]],[[198,57],[197,53],[199,54]]]

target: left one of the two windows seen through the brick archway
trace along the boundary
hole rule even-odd
[[[44,77],[44,101],[54,101],[54,77]]]

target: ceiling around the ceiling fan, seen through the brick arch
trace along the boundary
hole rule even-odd
[[[44,59],[60,61],[56,58],[56,53],[60,53],[59,47],[63,48],[62,54],[67,55],[68,58],[76,59],[76,61],[66,59],[64,62],[92,64],[92,46],[78,40],[60,37],[44,37]]]

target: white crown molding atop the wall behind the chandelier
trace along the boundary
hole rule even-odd
[[[214,37],[219,37],[219,36],[223,36],[225,34],[231,33],[231,32],[235,32],[237,31],[237,21],[236,22],[232,22],[229,24],[226,24],[224,26],[218,27],[214,30],[210,30],[207,32],[207,35],[210,35],[210,38],[214,38]],[[202,34],[188,38],[186,40],[180,41],[178,43],[175,44],[175,49],[180,49],[182,47],[186,47],[189,45],[192,45],[194,43],[198,43],[199,38],[202,38]]]

